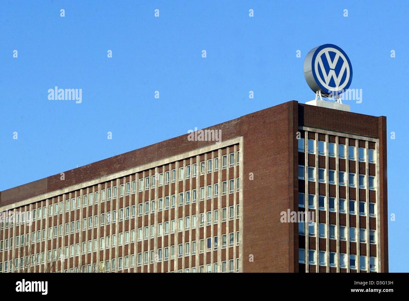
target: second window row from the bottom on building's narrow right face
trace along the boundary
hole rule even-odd
[[[306,223],[298,223],[298,234],[305,235],[305,227]],[[320,238],[326,238],[326,227],[327,225],[324,223],[319,223],[318,226],[318,236]],[[337,235],[335,233],[337,226],[336,225],[329,225],[329,238],[330,239],[337,239]],[[357,241],[357,232],[355,227],[349,227],[349,241],[356,242]],[[316,223],[310,222],[308,223],[308,236],[316,236]],[[339,226],[338,227],[338,236],[339,240],[346,241],[346,227]],[[359,229],[359,242],[366,243],[366,229],[360,228]],[[376,230],[369,230],[369,243],[376,243]]]

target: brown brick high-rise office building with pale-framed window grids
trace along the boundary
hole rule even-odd
[[[385,117],[290,101],[215,131],[0,192],[0,271],[388,272]]]

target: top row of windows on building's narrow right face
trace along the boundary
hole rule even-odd
[[[315,143],[315,140],[308,139],[308,154],[315,154]],[[318,154],[321,156],[326,156],[325,144],[325,141],[318,141]],[[345,147],[346,145],[338,144],[338,158],[345,159]],[[304,138],[298,139],[298,151],[305,152]],[[366,152],[368,152],[368,162],[375,163],[375,150],[364,147],[358,147],[358,161],[366,162]],[[335,143],[328,143],[328,156],[335,157]],[[355,146],[348,145],[348,160],[355,160]]]

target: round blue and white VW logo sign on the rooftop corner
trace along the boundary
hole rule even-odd
[[[308,52],[304,60],[304,76],[314,92],[341,94],[351,85],[351,61],[338,46],[321,45]]]

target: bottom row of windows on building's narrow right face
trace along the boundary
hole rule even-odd
[[[308,259],[306,259],[306,250],[299,249],[298,250],[298,262],[299,263],[306,263],[315,265],[316,263],[316,250],[308,250]],[[329,265],[330,267],[336,267],[337,261],[337,253],[330,252],[329,254]],[[366,256],[360,256],[360,270],[366,271]],[[318,254],[319,265],[327,265],[327,256],[326,251],[319,251]],[[349,268],[350,269],[357,269],[357,255],[349,254]],[[339,268],[346,268],[346,254],[340,253],[339,254]],[[369,257],[369,270],[376,271],[376,257]]]

